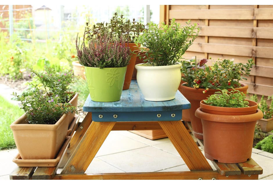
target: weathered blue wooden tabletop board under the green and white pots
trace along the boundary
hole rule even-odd
[[[115,102],[95,102],[88,96],[83,106],[85,112],[149,112],[182,110],[190,108],[190,102],[177,90],[175,99],[170,101],[146,101],[137,85],[132,80],[130,88],[123,90],[121,100]]]

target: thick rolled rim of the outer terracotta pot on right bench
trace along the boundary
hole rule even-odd
[[[257,121],[263,118],[263,112],[260,109],[257,109],[256,113],[254,114],[247,114],[247,115],[219,115],[219,114],[210,114],[201,111],[201,107],[199,107],[195,111],[195,116],[200,118],[201,120],[204,117],[207,121],[215,121],[215,122],[225,122],[225,123],[241,123],[241,122],[250,122],[250,121]]]

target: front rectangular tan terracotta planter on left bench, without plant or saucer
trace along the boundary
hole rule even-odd
[[[63,114],[54,125],[28,124],[23,114],[10,128],[22,159],[54,159],[62,147],[68,130],[68,115]]]

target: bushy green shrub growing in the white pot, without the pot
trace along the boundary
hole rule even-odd
[[[168,66],[173,65],[181,59],[185,51],[192,45],[197,38],[200,28],[197,23],[190,25],[188,20],[185,26],[181,26],[175,22],[173,18],[170,25],[157,25],[153,22],[149,23],[149,29],[144,30],[137,38],[137,42],[147,49],[143,62],[148,62],[152,66]]]

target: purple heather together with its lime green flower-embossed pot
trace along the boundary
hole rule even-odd
[[[87,27],[85,28],[86,33]],[[76,39],[79,63],[85,66],[91,100],[101,102],[119,101],[123,89],[125,72],[130,61],[130,48],[125,45],[125,38],[114,39],[106,31],[103,36],[91,38],[85,45]]]

